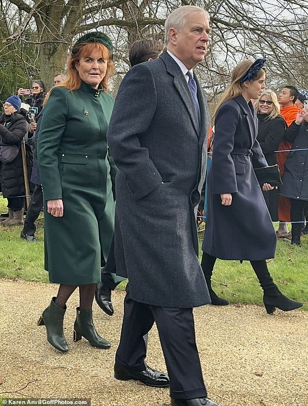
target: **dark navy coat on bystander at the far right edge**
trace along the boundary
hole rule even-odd
[[[291,199],[308,200],[308,151],[296,151],[308,148],[308,123],[297,125],[293,121],[285,140],[293,143],[293,151],[287,156],[279,192]]]

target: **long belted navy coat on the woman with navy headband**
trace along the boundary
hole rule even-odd
[[[224,102],[216,115],[202,249],[217,258],[256,261],[275,254],[276,234],[253,170],[267,166],[257,124],[242,96]],[[221,193],[232,194],[230,206],[222,205]]]

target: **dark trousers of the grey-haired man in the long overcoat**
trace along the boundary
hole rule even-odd
[[[151,330],[155,321],[170,377],[171,397],[206,397],[192,309],[150,306],[136,302],[130,298],[128,285],[116,362],[123,364],[125,368],[131,368],[132,372],[145,369],[146,344],[143,336]]]

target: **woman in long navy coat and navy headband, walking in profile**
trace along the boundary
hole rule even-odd
[[[267,166],[257,142],[251,99],[265,88],[265,60],[242,61],[215,111],[215,138],[208,182],[208,216],[201,266],[213,305],[227,305],[211,288],[216,258],[250,261],[264,291],[268,313],[303,304],[286,298],[274,284],[266,259],[273,258],[276,234],[253,168]],[[264,184],[264,191],[272,190]]]

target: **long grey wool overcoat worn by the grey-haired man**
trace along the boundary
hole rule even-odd
[[[194,209],[204,183],[209,119],[201,123],[185,76],[165,51],[123,79],[107,139],[117,168],[115,260],[137,302],[210,303],[198,260]]]

